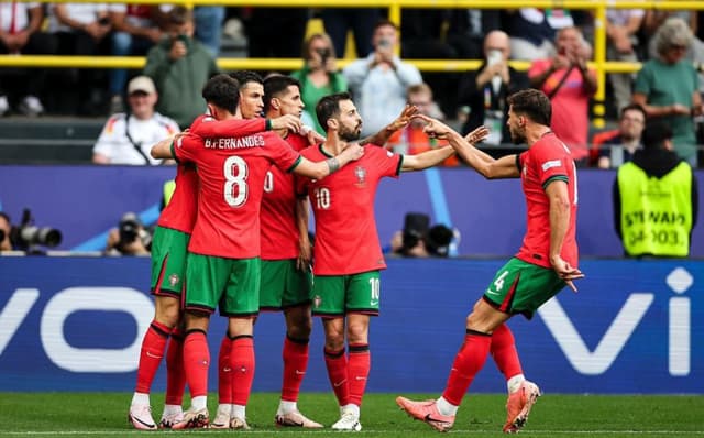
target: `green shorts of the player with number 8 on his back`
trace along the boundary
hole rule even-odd
[[[260,310],[260,258],[226,259],[188,253],[186,267],[187,310],[222,316],[257,315]]]

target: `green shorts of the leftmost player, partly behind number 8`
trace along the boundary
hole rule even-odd
[[[152,294],[180,297],[189,240],[190,234],[156,227],[152,240]]]

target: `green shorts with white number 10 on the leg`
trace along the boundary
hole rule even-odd
[[[346,314],[378,316],[378,271],[351,275],[316,275],[312,280],[312,315],[336,317]]]

